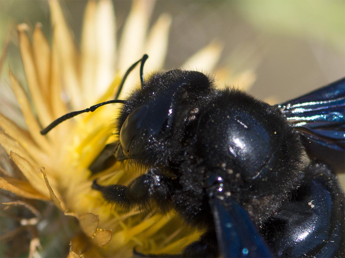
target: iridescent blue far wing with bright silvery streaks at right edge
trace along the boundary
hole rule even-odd
[[[345,78],[276,106],[302,136],[309,157],[344,171]]]

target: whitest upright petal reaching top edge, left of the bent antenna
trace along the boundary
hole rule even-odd
[[[111,1],[99,1],[96,16],[98,63],[96,67],[96,97],[103,94],[115,76],[116,19]]]

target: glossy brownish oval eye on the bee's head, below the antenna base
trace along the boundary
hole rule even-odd
[[[129,153],[134,138],[139,134],[146,118],[148,105],[134,109],[126,118],[120,130],[120,144],[125,153]]]

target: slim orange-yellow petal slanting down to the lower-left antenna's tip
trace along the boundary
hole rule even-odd
[[[41,127],[40,127],[36,117],[32,113],[32,108],[31,108],[30,102],[29,102],[23,88],[19,84],[16,77],[14,77],[11,70],[9,71],[9,75],[10,75],[10,80],[11,80],[11,84],[12,84],[14,93],[17,96],[17,99],[18,99],[18,102],[20,105],[20,109],[22,110],[26,125],[28,126],[28,129],[29,129],[29,132],[32,136],[32,139],[36,142],[36,144],[38,146],[40,146],[47,153],[49,153],[50,147],[49,147],[48,141],[47,141],[46,137],[44,137],[40,134]]]

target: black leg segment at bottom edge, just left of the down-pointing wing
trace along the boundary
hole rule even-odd
[[[216,233],[208,231],[201,235],[183,249],[181,257],[219,257]]]

